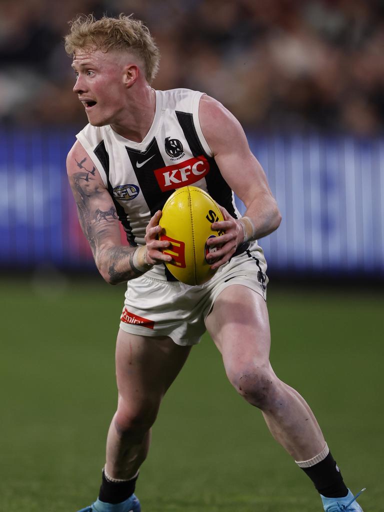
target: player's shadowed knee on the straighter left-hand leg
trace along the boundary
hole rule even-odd
[[[135,438],[143,436],[154,424],[158,410],[158,403],[151,400],[131,404],[119,399],[113,420],[118,435]]]

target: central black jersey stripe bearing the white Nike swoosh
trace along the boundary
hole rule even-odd
[[[134,150],[132,147],[125,146],[130,157],[134,173],[139,182],[141,193],[150,208],[151,217],[157,210],[161,210],[165,201],[173,193],[173,190],[163,192],[159,187],[154,171],[165,167],[165,162],[161,156],[159,146],[155,137],[147,146],[145,151]]]

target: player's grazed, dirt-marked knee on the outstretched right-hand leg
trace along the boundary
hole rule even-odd
[[[252,406],[261,410],[273,408],[279,396],[279,379],[271,369],[251,368],[228,372],[236,391]]]

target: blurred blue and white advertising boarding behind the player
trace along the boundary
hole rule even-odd
[[[94,267],[66,175],[74,140],[70,130],[0,129],[0,267]],[[260,240],[269,267],[384,275],[384,139],[248,140],[283,216]]]

